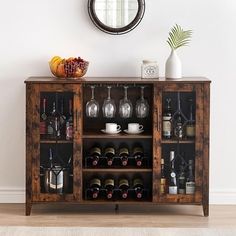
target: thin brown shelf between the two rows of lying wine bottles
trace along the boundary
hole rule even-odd
[[[98,172],[152,172],[151,168],[83,168],[83,172],[98,173]]]

